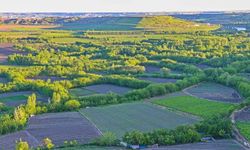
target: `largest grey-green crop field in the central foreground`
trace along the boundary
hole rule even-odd
[[[80,111],[102,131],[121,137],[127,131],[152,131],[157,128],[174,129],[196,122],[191,117],[159,108],[149,103],[127,103],[92,107]],[[157,116],[157,117],[156,117]]]

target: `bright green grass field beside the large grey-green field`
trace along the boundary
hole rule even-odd
[[[155,104],[187,112],[202,118],[228,112],[234,104],[209,101],[191,96],[178,96],[154,101]]]

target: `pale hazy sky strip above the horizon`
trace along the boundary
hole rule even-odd
[[[250,10],[250,0],[0,0],[0,12]]]

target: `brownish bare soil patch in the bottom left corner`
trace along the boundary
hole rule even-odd
[[[30,147],[37,147],[41,143],[38,142],[29,132],[20,131],[16,133],[11,133],[7,135],[3,135],[0,137],[0,149],[1,150],[14,150],[16,141],[27,141]]]

